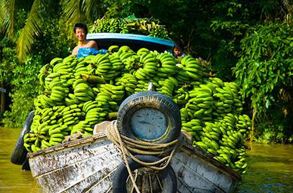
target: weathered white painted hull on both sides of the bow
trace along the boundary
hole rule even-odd
[[[103,134],[28,154],[28,158],[41,192],[112,192],[111,176],[122,162]],[[177,192],[232,192],[241,180],[237,172],[186,144],[171,166]]]

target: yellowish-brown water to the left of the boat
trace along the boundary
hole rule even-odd
[[[0,128],[0,192],[39,192],[30,171],[22,171],[21,165],[10,162],[10,154],[21,130]]]

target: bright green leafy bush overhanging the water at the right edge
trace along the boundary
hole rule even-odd
[[[283,127],[284,134],[292,129],[292,40],[292,25],[258,26],[241,41],[242,57],[233,70],[243,98],[258,112],[259,127],[271,123],[273,132]]]

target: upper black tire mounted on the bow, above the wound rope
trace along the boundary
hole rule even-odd
[[[174,101],[168,96],[154,91],[144,91],[132,94],[121,103],[117,116],[117,128],[121,134],[128,136],[131,139],[137,139],[129,129],[131,128],[130,119],[132,114],[141,108],[159,109],[167,118],[167,133],[160,139],[152,141],[153,143],[169,143],[180,136],[181,114],[178,105],[176,105],[176,103],[174,103]]]

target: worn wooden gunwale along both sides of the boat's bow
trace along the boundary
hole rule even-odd
[[[94,135],[88,136],[87,138],[84,138],[84,139],[76,139],[73,141],[61,143],[59,145],[54,145],[50,148],[45,148],[45,149],[39,150],[37,152],[29,152],[27,156],[28,156],[28,159],[31,159],[34,156],[39,156],[41,154],[48,154],[50,152],[64,150],[66,148],[72,148],[77,145],[94,143],[95,141],[97,141],[99,139],[108,139],[108,138],[105,133],[94,134]],[[232,176],[234,179],[236,179],[237,181],[241,181],[242,176],[241,176],[241,174],[239,174],[239,172],[236,172],[235,170],[232,170],[232,168],[217,161],[216,159],[213,158],[212,154],[205,152],[205,150],[200,148],[198,145],[196,145],[196,147],[194,147],[194,146],[190,145],[189,143],[187,143],[186,141],[183,141],[182,148],[185,149],[185,151],[188,151],[189,154],[196,154],[197,156],[201,157],[201,159],[208,161],[208,163],[211,163],[212,165],[214,165],[216,167],[220,167],[221,170],[230,174],[230,176]]]

